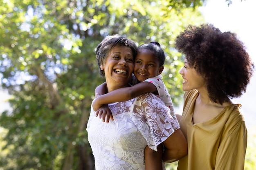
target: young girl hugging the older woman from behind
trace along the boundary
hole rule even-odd
[[[103,106],[104,104],[123,102],[133,99],[143,93],[152,92],[157,95],[168,108],[170,108],[171,115],[178,125],[171,97],[164,85],[162,77],[160,76],[164,70],[164,60],[164,51],[158,42],[150,42],[149,44],[139,46],[134,62],[134,76],[131,80],[131,84],[134,86],[119,88],[110,93],[106,93],[106,83],[98,86],[95,89],[96,99],[92,104],[93,109],[96,111],[96,117],[99,115],[99,118],[102,117],[103,122],[106,119],[106,122],[108,123],[109,119],[113,120],[113,117],[108,105]],[[125,71],[121,70],[116,70],[116,72],[126,74]],[[164,164],[162,164],[163,146],[159,145],[157,149],[157,152],[155,152],[148,146],[145,148],[144,155],[146,170],[165,169]]]

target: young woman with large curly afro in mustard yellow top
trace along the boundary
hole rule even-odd
[[[185,56],[180,128],[188,143],[177,170],[243,170],[247,130],[241,105],[230,99],[245,92],[253,74],[245,46],[211,24],[188,26],[175,46]]]

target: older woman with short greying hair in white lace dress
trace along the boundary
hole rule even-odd
[[[135,43],[119,35],[107,36],[97,46],[97,62],[101,75],[106,77],[108,93],[130,86],[136,52]],[[165,162],[186,155],[186,139],[179,125],[170,109],[153,93],[108,106],[114,120],[103,123],[92,108],[87,124],[96,170],[145,170],[145,157],[154,155],[162,144]],[[152,152],[145,151],[146,147]]]

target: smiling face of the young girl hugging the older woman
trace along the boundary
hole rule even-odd
[[[159,66],[157,57],[150,50],[144,49],[135,57],[133,74],[139,82],[162,73],[164,66]]]

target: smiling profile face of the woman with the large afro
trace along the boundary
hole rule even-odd
[[[189,66],[186,59],[184,60],[184,67],[180,70],[180,74],[183,77],[183,91],[205,88],[203,77],[195,71],[195,68]]]

